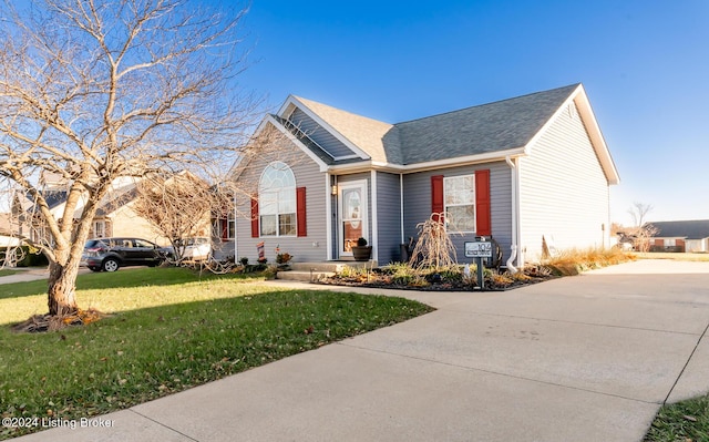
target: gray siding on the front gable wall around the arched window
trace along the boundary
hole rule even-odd
[[[307,236],[251,238],[250,201],[248,197],[240,196],[236,198],[237,259],[245,256],[249,258],[249,261],[255,263],[258,257],[256,245],[261,240],[265,243],[266,258],[269,263],[276,261],[276,247],[281,253],[292,255],[295,263],[325,261],[327,259],[326,198],[329,197],[329,193],[325,182],[326,174],[320,172],[319,166],[297,146],[291,145],[291,148],[294,154],[287,155],[290,158],[287,164],[294,172],[296,186],[306,187]],[[244,187],[258,186],[261,173],[268,163],[269,161],[264,158],[254,160],[239,176],[239,182],[244,183]]]

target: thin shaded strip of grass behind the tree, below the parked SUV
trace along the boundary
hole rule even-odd
[[[212,279],[255,278],[259,278],[259,276],[242,274],[214,275],[208,273],[203,273],[201,275],[197,271],[179,267],[122,268],[115,273],[91,273],[79,275],[76,278],[76,291],[146,286],[172,286]],[[37,295],[47,295],[45,279],[0,285],[0,299]]]

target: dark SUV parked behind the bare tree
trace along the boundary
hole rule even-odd
[[[155,267],[163,263],[168,249],[140,238],[95,238],[84,244],[81,265],[93,271],[115,271],[123,266]]]

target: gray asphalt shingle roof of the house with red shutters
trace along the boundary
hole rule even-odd
[[[393,125],[311,100],[297,100],[373,161],[409,165],[524,147],[578,86]]]

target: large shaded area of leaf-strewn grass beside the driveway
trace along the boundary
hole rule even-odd
[[[0,397],[10,417],[43,417],[48,402],[61,419],[103,414],[431,310],[402,298],[249,285],[230,298],[123,311],[55,332],[4,328]]]

